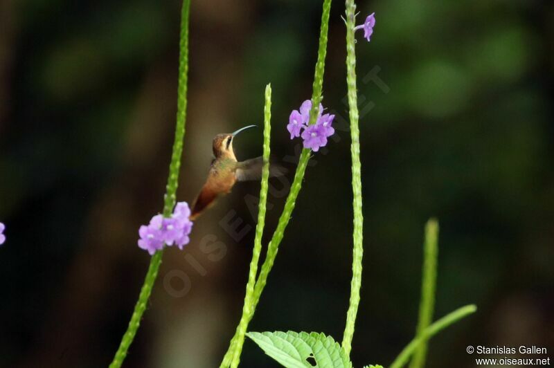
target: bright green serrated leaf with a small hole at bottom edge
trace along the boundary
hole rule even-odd
[[[247,336],[287,368],[352,368],[338,342],[323,333],[249,332]]]

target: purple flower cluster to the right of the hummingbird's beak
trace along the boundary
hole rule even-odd
[[[319,148],[327,145],[327,138],[334,134],[334,128],[332,127],[334,115],[323,114],[323,105],[319,104],[316,123],[308,125],[311,109],[312,101],[305,100],[300,107],[300,111],[293,110],[290,113],[287,130],[291,139],[302,137],[304,148],[310,148],[317,152]]]

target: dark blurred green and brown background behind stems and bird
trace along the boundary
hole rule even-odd
[[[479,311],[431,341],[554,352],[554,6],[533,0],[359,1],[364,282],[352,360],[387,365],[415,331],[425,221],[440,220],[436,317]],[[175,127],[179,1],[0,1],[0,366],[106,367],[150,257]],[[333,3],[314,155],[251,323],[341,340],[352,246],[343,3]],[[179,200],[206,178],[211,139],[262,122],[294,172],[285,125],[311,95],[321,1],[193,1]],[[235,140],[261,154],[261,129]],[[272,179],[265,242],[290,174]],[[125,367],[215,367],[240,318],[258,183],[237,185],[168,249]],[[512,358],[515,356],[512,356]],[[552,358],[554,356],[551,355]],[[276,366],[251,341],[243,367]]]

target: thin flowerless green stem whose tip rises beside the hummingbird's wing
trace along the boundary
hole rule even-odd
[[[237,339],[233,347],[233,356],[231,367],[238,367],[240,361],[240,352],[244,342],[244,335],[247,333],[248,322],[254,314],[256,308],[252,303],[254,286],[256,285],[256,276],[258,275],[258,261],[262,252],[262,235],[265,226],[265,212],[267,203],[267,188],[269,182],[269,138],[271,136],[271,84],[265,87],[265,107],[264,107],[264,165],[262,169],[262,185],[260,187],[260,203],[258,204],[258,224],[256,225],[256,236],[254,237],[254,248],[252,260],[250,261],[250,273],[248,275],[248,284],[246,296],[244,297],[244,306],[242,306],[242,317],[237,326]]]

